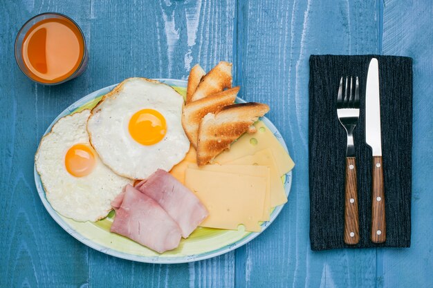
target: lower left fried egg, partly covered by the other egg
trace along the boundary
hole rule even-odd
[[[45,135],[35,164],[46,199],[58,213],[75,221],[97,221],[109,213],[111,201],[132,181],[104,165],[93,150],[86,109],[60,118]]]

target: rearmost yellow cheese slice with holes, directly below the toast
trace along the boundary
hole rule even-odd
[[[295,163],[288,155],[283,146],[279,144],[277,138],[269,130],[264,122],[257,121],[254,126],[257,132],[253,134],[245,133],[230,146],[230,150],[224,151],[215,158],[216,163],[228,163],[246,155],[252,155],[258,151],[270,148],[277,164],[279,176],[282,176],[293,169]]]

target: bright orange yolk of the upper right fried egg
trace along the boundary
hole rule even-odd
[[[142,109],[129,120],[129,134],[142,145],[153,145],[163,140],[167,124],[161,113],[154,109]]]

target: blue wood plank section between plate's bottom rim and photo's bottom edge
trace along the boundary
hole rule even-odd
[[[89,287],[234,287],[234,253],[189,264],[155,265],[91,249],[89,266]]]

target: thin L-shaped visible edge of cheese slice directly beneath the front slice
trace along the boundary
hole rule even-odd
[[[199,167],[196,164],[189,164],[188,168],[199,169],[201,171],[214,171],[221,173],[232,173],[250,175],[255,177],[266,178],[266,195],[264,200],[263,215],[260,218],[261,221],[270,220],[270,169],[268,166],[259,165],[206,165]]]

